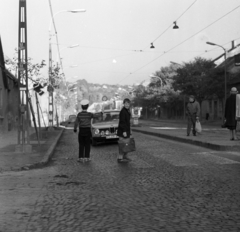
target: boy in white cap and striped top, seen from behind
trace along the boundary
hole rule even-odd
[[[79,128],[78,132],[78,142],[79,142],[79,154],[78,161],[90,161],[90,149],[91,149],[91,120],[93,118],[93,114],[87,112],[89,101],[84,99],[81,101],[82,112],[78,113],[77,118],[74,123],[74,132],[77,132],[77,128]]]

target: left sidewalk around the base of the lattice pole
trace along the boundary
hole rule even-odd
[[[30,131],[31,153],[17,153],[17,131],[10,131],[0,135],[0,172],[19,171],[46,165],[53,154],[54,148],[60,139],[63,128],[55,128],[53,131],[42,131],[40,145],[34,130]]]

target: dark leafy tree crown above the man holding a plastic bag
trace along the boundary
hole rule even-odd
[[[209,77],[213,77],[214,67],[215,64],[211,60],[201,57],[184,63],[173,77],[174,90],[179,90],[184,95],[194,95],[201,103],[206,94],[209,94]]]

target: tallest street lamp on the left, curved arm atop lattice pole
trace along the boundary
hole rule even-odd
[[[54,17],[57,14],[63,13],[63,12],[69,12],[69,13],[81,13],[81,12],[86,12],[85,9],[75,9],[75,10],[62,10],[62,11],[58,11],[57,13],[55,13],[49,23],[49,86],[48,86],[48,92],[49,92],[49,98],[48,98],[48,127],[49,130],[53,129],[53,86],[52,86],[52,77],[51,77],[51,73],[52,73],[52,48],[51,48],[51,25],[52,23],[54,24]],[[55,27],[55,24],[54,24]],[[56,32],[56,28],[55,28],[55,33]],[[57,38],[56,38],[57,39]],[[58,44],[58,39],[57,39],[57,44]],[[59,48],[58,48],[59,49]],[[60,52],[59,52],[60,55]],[[60,61],[60,65],[62,66],[62,62],[61,62],[61,58],[59,57],[59,61]]]

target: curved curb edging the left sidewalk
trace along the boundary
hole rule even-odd
[[[58,136],[55,138],[55,140],[53,141],[51,146],[48,148],[46,154],[44,155],[43,159],[40,162],[25,165],[21,168],[17,168],[17,170],[15,169],[14,171],[29,170],[29,169],[41,168],[41,167],[45,166],[52,158],[54,149],[57,146],[57,143],[58,143],[59,139],[61,138],[63,131],[64,131],[64,129],[62,129],[61,132],[58,134]]]

